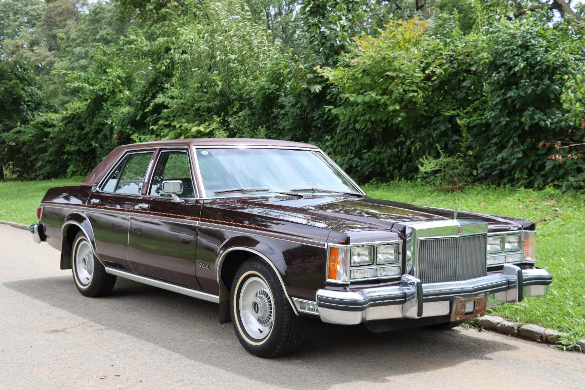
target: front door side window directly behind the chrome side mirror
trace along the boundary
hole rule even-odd
[[[163,194],[163,181],[178,180],[183,183],[183,192],[179,198],[195,198],[195,189],[191,180],[191,165],[186,151],[161,151],[159,161],[154,168],[150,182],[150,196],[167,196]]]

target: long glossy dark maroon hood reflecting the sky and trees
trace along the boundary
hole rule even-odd
[[[452,209],[353,196],[243,196],[230,198],[221,207],[345,233],[387,230],[396,223],[408,225],[412,222],[453,219],[455,216]],[[510,220],[503,218],[462,211],[457,212],[457,219],[481,220],[490,225],[512,225]]]

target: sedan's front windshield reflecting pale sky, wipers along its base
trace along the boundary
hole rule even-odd
[[[195,149],[208,198],[254,192],[351,192],[360,194],[321,152],[292,149]],[[312,189],[319,191],[312,191]],[[235,192],[229,192],[235,190]]]

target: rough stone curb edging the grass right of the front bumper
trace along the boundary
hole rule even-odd
[[[483,316],[476,319],[477,327],[486,330],[495,330],[495,332],[510,334],[510,336],[520,336],[525,339],[534,341],[542,341],[548,344],[557,344],[560,340],[561,332],[554,329],[546,329],[545,327],[528,324],[519,325],[518,323],[508,321],[503,317],[498,316]],[[579,340],[580,351],[585,353],[585,339]],[[573,351],[579,352],[579,347],[574,347]]]

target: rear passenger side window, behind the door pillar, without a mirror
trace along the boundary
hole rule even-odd
[[[130,154],[113,170],[102,191],[140,195],[152,155],[152,152]]]

